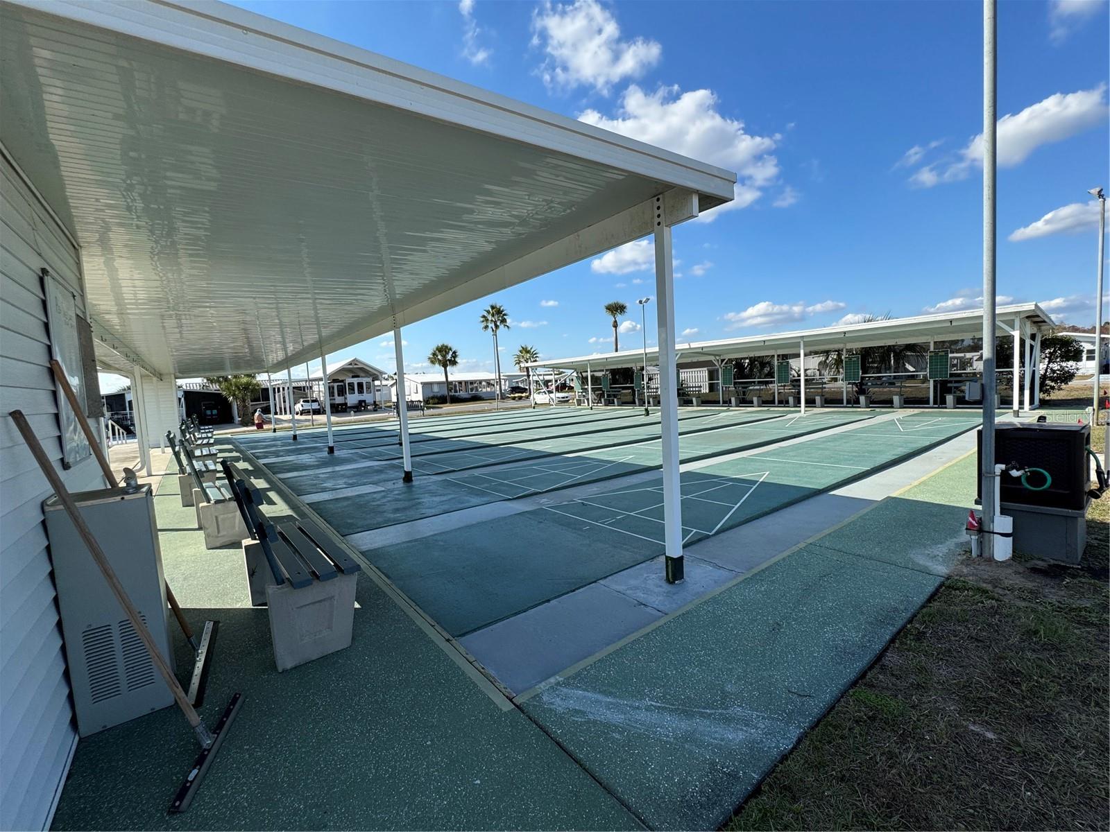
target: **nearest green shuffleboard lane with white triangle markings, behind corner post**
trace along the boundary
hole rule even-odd
[[[684,539],[708,537],[836,488],[977,424],[900,417],[817,435],[774,455],[757,453],[685,471]],[[654,479],[362,550],[445,630],[461,637],[663,554],[662,490]]]

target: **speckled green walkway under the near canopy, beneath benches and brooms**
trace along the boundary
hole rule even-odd
[[[194,628],[221,621],[201,712],[214,720],[233,691],[245,694],[242,709],[180,815],[165,808],[196,745],[176,708],[82,740],[56,829],[636,826],[366,575],[359,576],[352,646],[278,673],[266,610],[248,606],[239,547],[203,548],[175,480],[167,477],[155,497],[167,579]],[[173,635],[184,677],[191,656]]]

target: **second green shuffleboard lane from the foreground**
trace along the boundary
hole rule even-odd
[[[768,414],[755,410],[718,414],[719,418],[707,417],[715,419],[713,423],[706,419],[679,423],[679,457],[683,461],[803,436],[874,415],[870,412],[844,410],[804,418],[793,415],[755,420]],[[733,420],[731,425],[722,424],[726,416]],[[703,428],[712,429],[702,432]],[[609,432],[599,435],[606,438],[606,445],[588,454],[569,456],[547,450],[534,463],[442,476],[422,475],[412,486],[401,486],[396,481],[400,468],[393,464],[364,463],[376,467],[345,468],[346,474],[343,474],[335,470],[342,461],[330,461],[334,457],[320,457],[316,461],[319,467],[313,473],[283,476],[282,481],[310,503],[313,510],[336,531],[353,535],[501,499],[658,468],[663,465],[658,429],[657,425],[654,429],[649,426],[635,428],[632,436],[638,442],[619,446],[617,437],[629,443],[629,435],[623,430]],[[694,429],[700,433],[692,435],[689,432]],[[645,435],[652,438],[644,438]],[[581,443],[577,447],[588,447],[596,439],[577,437],[576,442]],[[491,453],[498,450],[504,449],[493,448]],[[535,448],[533,450],[538,453]]]

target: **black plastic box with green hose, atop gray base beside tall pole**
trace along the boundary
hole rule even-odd
[[[1087,509],[1090,465],[1087,448],[1091,444],[1090,425],[1053,423],[1001,423],[995,426],[995,463],[1017,463],[1022,468],[1041,468],[1052,477],[1052,484],[1040,491],[1021,485],[1020,477],[1002,474],[1002,503],[1045,508]],[[978,432],[979,458],[982,459],[982,428]],[[1029,485],[1040,486],[1039,473],[1028,477]],[[982,499],[982,480],[979,479]]]

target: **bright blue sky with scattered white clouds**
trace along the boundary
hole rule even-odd
[[[683,341],[980,305],[978,2],[236,4],[736,170],[737,207],[675,232]],[[1086,191],[1110,184],[1107,10],[999,9],[998,292],[1083,325]],[[610,349],[608,301],[628,304],[622,344],[638,346],[635,301],[652,294],[650,246],[632,246],[407,326],[406,364],[448,341],[461,369],[492,368],[477,321],[492,301],[514,322],[503,356]],[[332,358],[392,369],[389,345]]]

